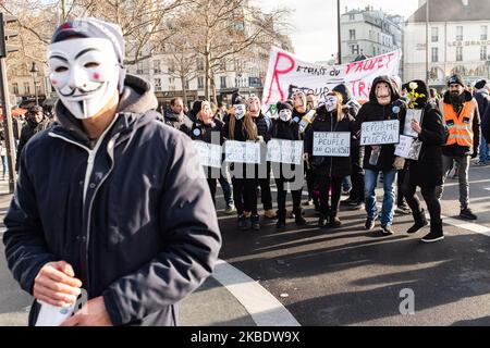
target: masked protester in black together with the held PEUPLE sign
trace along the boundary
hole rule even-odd
[[[342,95],[330,92],[305,135],[305,160],[320,190],[320,227],[340,227],[338,217],[342,181],[351,174],[351,137],[355,120],[342,105]],[[331,200],[329,204],[329,191]]]

